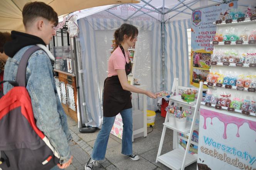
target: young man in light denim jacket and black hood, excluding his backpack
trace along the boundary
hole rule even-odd
[[[54,57],[46,48],[55,35],[57,13],[43,2],[30,2],[25,4],[22,16],[25,33],[12,31],[12,41],[4,45],[4,52],[9,56],[5,64],[4,80],[15,81],[18,65],[28,49],[35,45],[43,49],[36,50],[29,57],[25,87],[31,98],[36,126],[49,139],[54,151],[59,155],[59,164],[51,170],[64,169],[72,163],[68,145],[71,134],[52,74]],[[12,88],[10,83],[5,82],[4,94]]]

